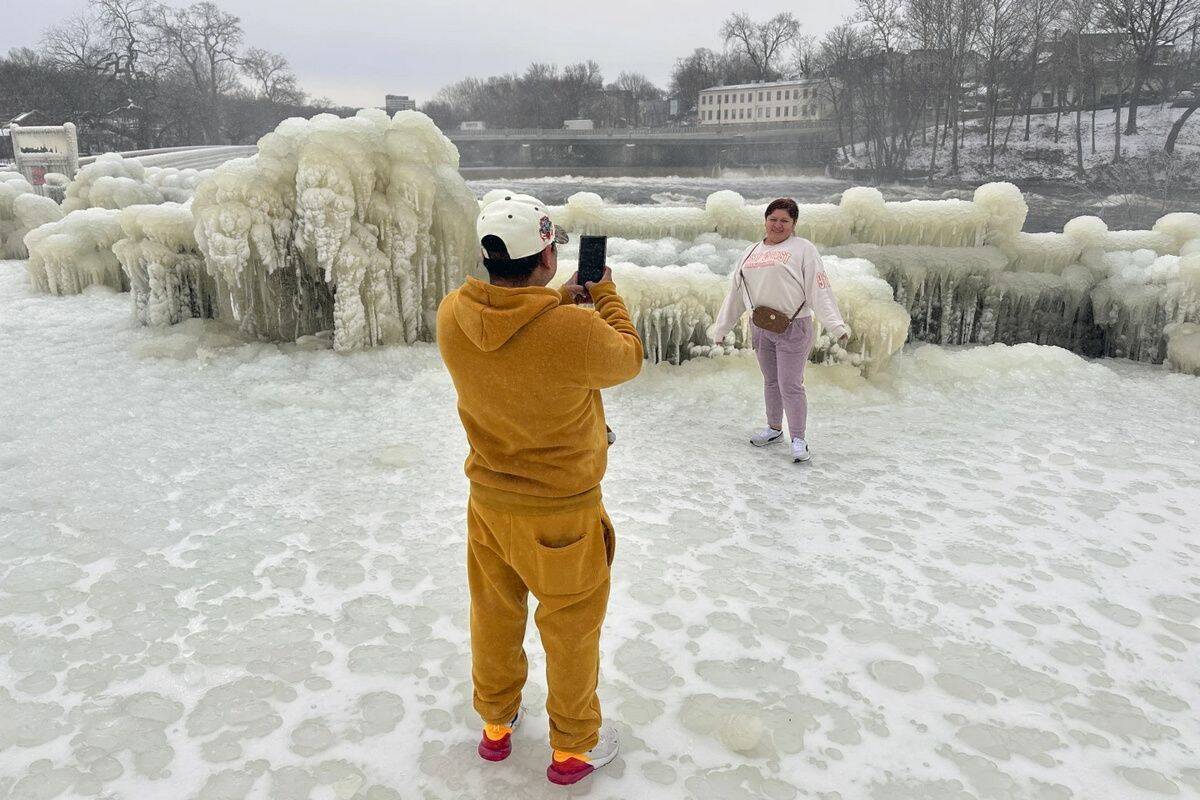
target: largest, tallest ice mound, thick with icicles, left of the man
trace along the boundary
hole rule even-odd
[[[440,299],[480,269],[458,152],[416,112],[286,120],[203,181],[192,210],[222,303],[264,338],[428,339]]]

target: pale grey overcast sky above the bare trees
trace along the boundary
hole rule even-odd
[[[172,2],[172,5],[184,5]],[[385,94],[430,100],[469,76],[522,71],[532,61],[560,66],[594,59],[605,80],[642,72],[666,88],[674,60],[694,48],[720,49],[721,20],[792,11],[821,35],[853,0],[751,5],[715,0],[217,0],[241,18],[246,42],[283,53],[304,89],[347,106],[383,106]],[[42,31],[86,7],[86,0],[22,4],[0,23],[0,53],[36,47]]]

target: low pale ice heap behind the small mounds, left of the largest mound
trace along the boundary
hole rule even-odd
[[[106,152],[82,168],[66,187],[62,207],[125,209],[131,205],[184,203],[212,170],[143,167],[137,158]]]

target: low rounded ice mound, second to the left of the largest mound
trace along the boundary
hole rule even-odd
[[[130,283],[113,254],[121,237],[120,211],[82,209],[25,235],[26,270],[34,288],[78,294],[94,284],[125,291]]]

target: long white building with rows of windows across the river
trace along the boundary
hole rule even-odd
[[[701,125],[811,122],[833,116],[823,79],[712,86],[700,92]]]

